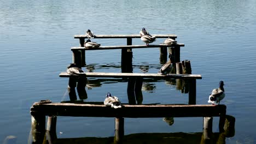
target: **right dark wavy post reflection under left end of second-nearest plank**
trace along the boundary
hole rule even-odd
[[[87,93],[85,91],[87,78],[85,76],[80,76],[77,82],[77,92],[80,100],[87,99]]]

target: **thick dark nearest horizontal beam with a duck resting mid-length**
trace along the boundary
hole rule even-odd
[[[123,105],[113,109],[104,105],[72,103],[34,103],[31,115],[72,117],[218,117],[225,105]]]

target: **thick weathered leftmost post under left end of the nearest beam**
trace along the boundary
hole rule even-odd
[[[45,135],[45,116],[31,111],[32,143],[42,143]]]

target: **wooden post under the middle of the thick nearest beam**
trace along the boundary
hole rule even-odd
[[[124,137],[124,118],[115,118],[115,136],[114,143],[122,143]]]

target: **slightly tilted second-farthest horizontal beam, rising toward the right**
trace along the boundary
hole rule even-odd
[[[118,46],[100,46],[98,48],[87,49],[86,47],[72,47],[71,50],[115,50],[115,49],[138,49],[138,48],[153,48],[153,47],[176,47],[176,46],[185,46],[184,44],[175,44],[175,45],[118,45]]]

